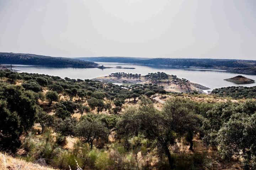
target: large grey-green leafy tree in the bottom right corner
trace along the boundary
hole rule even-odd
[[[217,141],[223,159],[242,158],[245,170],[256,169],[256,113],[234,114],[220,128]]]

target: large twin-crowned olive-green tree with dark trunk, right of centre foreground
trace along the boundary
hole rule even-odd
[[[159,112],[148,98],[142,96],[139,108],[129,108],[123,114],[117,125],[117,134],[129,137],[142,134],[150,141],[157,141],[158,153],[165,153],[172,167],[174,159],[170,146],[175,145],[177,139],[194,134],[200,128],[201,117],[187,108],[187,102],[182,98],[171,99]],[[192,149],[192,139],[190,142]]]

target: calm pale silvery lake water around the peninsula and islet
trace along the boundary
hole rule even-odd
[[[38,74],[48,74],[59,76],[61,78],[68,77],[73,79],[92,79],[96,77],[101,77],[109,75],[116,72],[124,73],[138,73],[138,74],[148,74],[155,72],[165,72],[167,74],[177,75],[178,78],[185,78],[191,82],[198,83],[209,87],[210,89],[215,89],[219,87],[227,86],[256,86],[254,84],[235,84],[224,79],[235,77],[237,75],[243,75],[247,78],[256,80],[256,75],[244,75],[229,73],[226,71],[216,71],[216,70],[202,70],[202,69],[174,69],[167,67],[149,67],[149,66],[138,66],[125,63],[98,63],[104,65],[105,67],[129,67],[135,69],[123,69],[123,68],[108,68],[108,69],[98,69],[98,68],[52,68],[52,67],[42,67],[42,66],[29,66],[29,65],[14,65],[17,66],[14,69],[20,70],[21,72],[27,73],[38,73]]]

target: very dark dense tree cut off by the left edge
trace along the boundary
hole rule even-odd
[[[0,83],[0,148],[15,152],[20,135],[29,130],[38,112],[34,92],[22,86]]]

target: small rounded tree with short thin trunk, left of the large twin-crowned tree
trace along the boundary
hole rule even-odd
[[[75,135],[79,137],[82,142],[90,143],[92,149],[94,140],[107,140],[108,129],[97,119],[91,122],[87,119],[82,119],[76,126]]]

